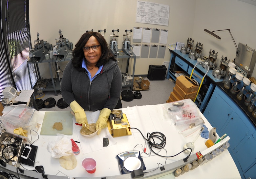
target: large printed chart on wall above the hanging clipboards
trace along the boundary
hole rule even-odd
[[[169,11],[168,5],[137,1],[136,22],[168,26]]]

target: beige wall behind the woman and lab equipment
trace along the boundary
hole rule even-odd
[[[256,17],[256,6],[237,0],[147,0],[147,2],[170,6],[168,26],[136,23],[137,0],[30,0],[32,45],[36,40],[37,32],[40,34],[40,39],[55,45],[55,38],[59,37],[59,29],[74,46],[81,35],[91,29],[94,31],[106,29],[105,39],[110,42],[109,35],[112,29],[119,28],[118,47],[121,48],[125,29],[139,26],[168,29],[167,45],[176,42],[186,43],[187,38],[194,39],[195,43],[201,42],[203,55],[208,56],[212,48],[218,52],[217,61],[220,61],[222,55],[230,60],[235,58],[235,46],[228,31],[216,33],[221,36],[221,40],[218,40],[204,32],[204,28],[208,30],[230,28],[237,45],[241,42],[251,48],[256,47],[254,35],[256,24],[253,21]],[[150,64],[161,65],[169,60],[168,48],[164,59],[139,58],[136,60],[135,75],[145,75]],[[64,70],[65,65],[66,63],[60,64],[61,69]],[[48,64],[40,64],[40,73],[43,78],[50,77]]]

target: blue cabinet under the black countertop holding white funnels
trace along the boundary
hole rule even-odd
[[[216,86],[203,115],[217,128],[219,135],[230,137],[230,152],[242,178],[255,178],[255,126],[241,108]],[[254,176],[254,177],[253,177]]]

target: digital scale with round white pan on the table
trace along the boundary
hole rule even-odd
[[[122,174],[131,173],[133,170],[146,170],[139,151],[128,151],[116,156],[119,170]]]

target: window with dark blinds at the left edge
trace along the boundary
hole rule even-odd
[[[1,0],[0,92],[7,86],[31,89],[27,57],[31,48],[28,0]],[[31,71],[34,70],[30,64]],[[34,73],[32,85],[36,83]],[[2,100],[3,94],[0,94]]]

